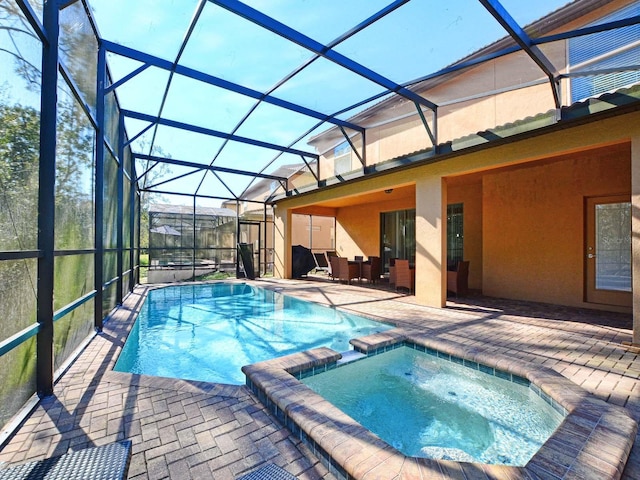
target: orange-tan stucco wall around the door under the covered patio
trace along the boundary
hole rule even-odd
[[[584,306],[585,197],[629,193],[630,174],[626,144],[485,175],[483,293]]]

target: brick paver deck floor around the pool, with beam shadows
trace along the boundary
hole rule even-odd
[[[622,345],[631,340],[630,315],[485,297],[435,309],[417,305],[411,296],[360,286],[255,283],[544,365],[640,420],[640,360]],[[0,450],[0,462],[131,439],[129,478],[134,479],[235,479],[267,463],[301,479],[333,479],[244,386],[111,371],[146,288],[138,287],[113,314],[56,384],[54,395],[40,402]],[[639,441],[622,478],[640,478]]]

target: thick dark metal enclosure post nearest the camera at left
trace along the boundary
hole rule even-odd
[[[53,394],[53,282],[55,233],[56,124],[58,116],[58,2],[46,1],[43,11],[47,42],[42,47],[40,93],[40,169],[38,180],[38,299],[36,390]]]

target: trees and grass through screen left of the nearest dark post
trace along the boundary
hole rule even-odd
[[[37,248],[39,112],[0,95],[0,250]],[[35,260],[0,262],[0,339],[35,322]],[[0,424],[32,393],[33,341],[0,358]]]

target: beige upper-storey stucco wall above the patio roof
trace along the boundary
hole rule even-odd
[[[602,5],[596,11],[572,20],[556,31],[578,28],[608,13],[622,8],[632,0],[618,0]],[[558,73],[568,68],[567,43],[556,41],[539,47]],[[433,114],[424,108],[424,115],[437,143],[442,144],[465,135],[488,130],[509,122],[535,116],[556,108],[548,78],[524,52],[516,52],[484,62],[459,72],[438,85],[417,92],[438,105],[437,126]],[[570,103],[570,82],[560,85],[563,105]],[[418,115],[415,104],[404,99],[381,102],[353,118],[367,128],[366,162],[374,165],[433,146]],[[360,151],[361,136],[352,136]],[[310,141],[320,157],[321,179],[334,175],[333,149],[345,138],[336,128],[317,135]],[[352,168],[361,168],[352,153]]]

